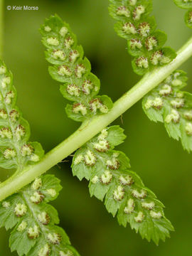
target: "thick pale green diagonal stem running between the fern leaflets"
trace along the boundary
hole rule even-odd
[[[16,173],[0,184],[0,201],[15,193],[23,186],[33,181],[34,178],[48,171],[51,167],[58,164],[62,159],[72,154],[76,149],[94,137],[98,132],[114,121],[122,113],[132,107],[137,101],[142,99],[147,92],[159,85],[165,78],[176,70],[192,55],[192,37],[178,50],[178,55],[169,65],[156,68],[144,75],[137,85],[132,87],[127,93],[114,103],[112,110],[100,116],[96,116],[90,121],[82,123],[81,127],[74,132],[68,139],[55,146],[49,151],[38,164],[28,166],[22,172]]]

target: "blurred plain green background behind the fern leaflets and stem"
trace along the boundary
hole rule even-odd
[[[38,28],[50,14],[58,14],[70,23],[85,55],[92,63],[92,72],[101,80],[101,94],[117,100],[140,78],[131,67],[126,41],[113,30],[107,0],[7,0],[4,6],[4,60],[14,73],[18,90],[18,106],[31,124],[31,140],[41,142],[49,151],[75,131],[78,123],[66,117],[66,100],[58,82],[48,75],[48,63]],[[7,11],[6,6],[38,6],[38,11]],[[154,0],[158,28],[168,34],[167,45],[178,50],[191,36],[183,23],[185,11],[172,0]],[[192,92],[192,60],[182,68],[188,72],[188,90]],[[78,181],[70,170],[70,161],[58,164],[52,173],[62,180],[63,191],[53,202],[60,215],[60,224],[82,256],[192,255],[192,159],[181,144],[169,139],[161,124],[149,122],[138,102],[117,119],[127,134],[119,149],[131,159],[146,186],[164,202],[167,218],[175,227],[171,239],[159,246],[135,234],[129,225],[122,228],[105,210],[102,202],[90,198],[86,181]],[[0,180],[10,176],[2,171]],[[0,230],[0,255],[16,255],[9,250],[9,233]]]

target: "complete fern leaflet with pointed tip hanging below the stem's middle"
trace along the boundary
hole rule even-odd
[[[114,151],[114,146],[124,139],[123,129],[118,126],[103,129],[76,151],[73,175],[90,181],[90,195],[101,201],[105,198],[108,212],[113,216],[117,214],[120,225],[126,227],[128,222],[142,238],[158,244],[159,240],[169,237],[169,230],[174,228],[164,216],[163,204],[144,186],[141,178],[130,171],[127,156]]]

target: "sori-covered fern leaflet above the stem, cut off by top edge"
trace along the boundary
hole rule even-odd
[[[176,57],[176,53],[166,43],[166,34],[156,31],[156,22],[149,16],[151,0],[110,0],[110,15],[118,22],[114,29],[127,39],[128,52],[134,56],[132,66],[138,75],[156,67],[166,65]]]

